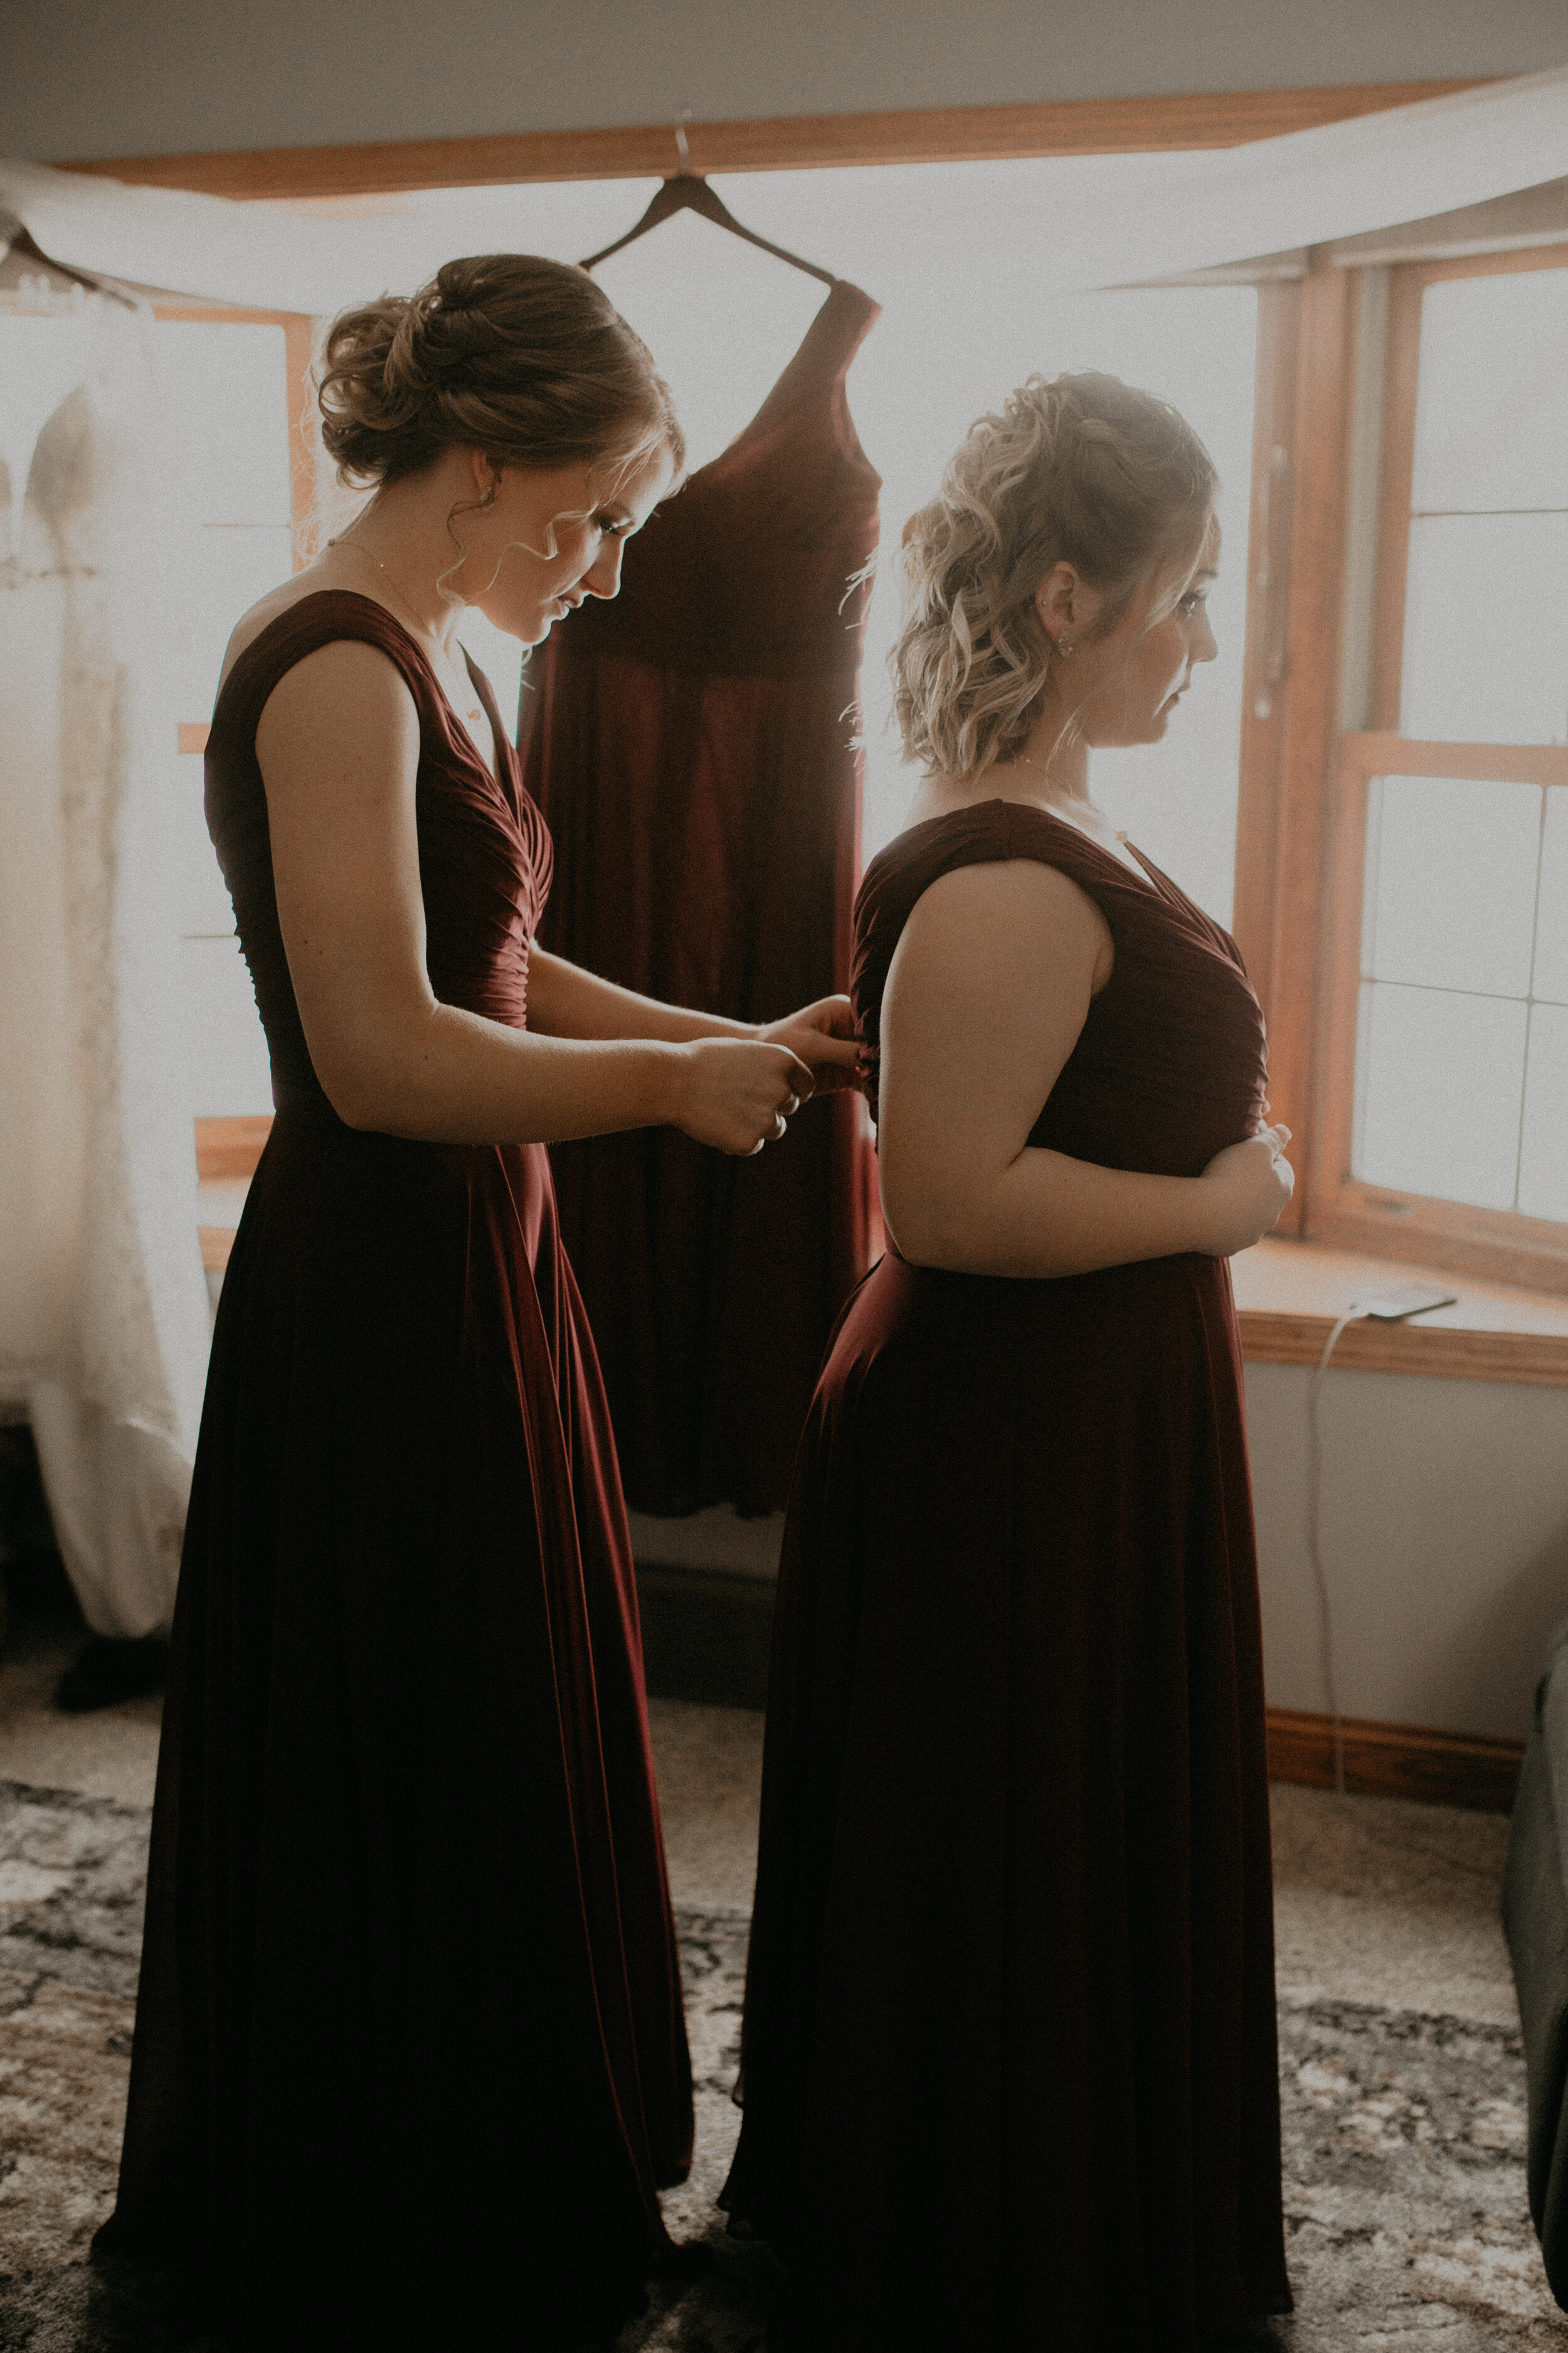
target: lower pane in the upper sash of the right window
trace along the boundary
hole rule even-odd
[[[1418,515],[1401,734],[1568,744],[1568,515]]]

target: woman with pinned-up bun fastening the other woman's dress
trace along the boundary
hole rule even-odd
[[[320,407],[371,496],[235,626],[207,746],[277,1115],[212,1346],[99,2259],[268,2353],[576,2348],[682,2268],[656,2193],[691,2071],[545,1146],[755,1153],[858,1049],[844,998],[750,1028],[536,946],[550,838],[458,624],[531,647],[616,595],[679,482],[599,287],[449,261],[336,320]]]

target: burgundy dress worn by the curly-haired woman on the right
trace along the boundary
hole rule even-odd
[[[1030,1144],[1197,1176],[1262,1014],[1173,882],[1016,802],[867,868],[875,1047],[938,875],[1039,859],[1114,972]],[[1161,2353],[1288,2311],[1262,1642],[1229,1268],[1053,1280],[889,1252],[785,1532],[724,2193],[790,2264],[769,2346]]]

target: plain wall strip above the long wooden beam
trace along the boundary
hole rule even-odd
[[[1535,73],[1561,0],[0,0],[40,160]]]

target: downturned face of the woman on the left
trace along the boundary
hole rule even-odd
[[[668,449],[611,494],[595,466],[550,473],[508,466],[494,501],[454,525],[468,555],[451,586],[508,638],[541,645],[585,598],[616,595],[621,551],[672,480]]]

